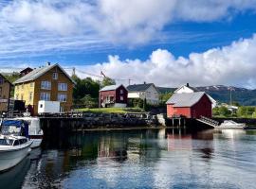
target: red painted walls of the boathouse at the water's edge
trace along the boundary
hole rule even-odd
[[[173,107],[172,104],[167,105],[167,116],[184,115],[188,118],[200,118],[201,115],[211,117],[211,102],[209,97],[204,94],[202,98],[192,107]]]

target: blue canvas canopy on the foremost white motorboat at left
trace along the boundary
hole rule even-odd
[[[24,120],[4,120],[1,132],[28,137],[28,124]]]

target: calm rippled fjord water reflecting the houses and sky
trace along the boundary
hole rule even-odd
[[[51,138],[1,174],[0,183],[1,188],[256,188],[256,130],[108,130]]]

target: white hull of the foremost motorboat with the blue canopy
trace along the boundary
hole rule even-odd
[[[29,153],[31,144],[32,142],[29,142],[27,146],[16,149],[0,149],[0,172],[6,171],[20,163]]]

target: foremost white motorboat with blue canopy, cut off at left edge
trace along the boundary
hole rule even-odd
[[[20,163],[29,153],[28,126],[23,121],[4,120],[0,135],[0,171]]]

